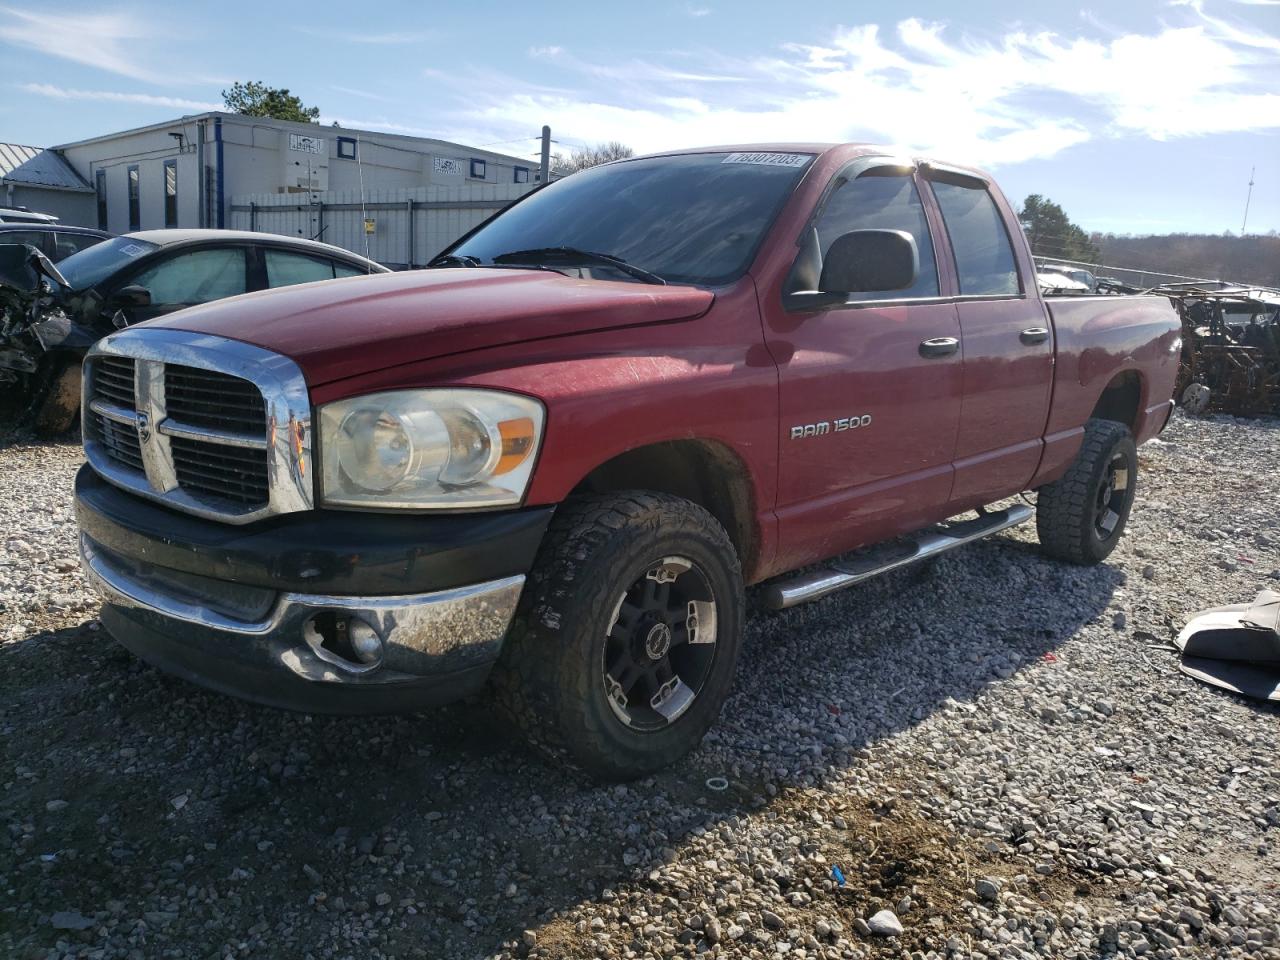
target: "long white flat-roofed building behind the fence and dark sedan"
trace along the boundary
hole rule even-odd
[[[207,113],[54,147],[113,233],[230,227],[233,195],[532,183],[538,160],[424,137]],[[361,180],[364,182],[361,184]]]

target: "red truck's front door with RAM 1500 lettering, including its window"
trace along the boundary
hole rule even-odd
[[[876,159],[846,166],[800,238],[800,257],[806,247],[824,255],[836,237],[873,228],[915,239],[913,288],[851,294],[827,310],[763,305],[780,374],[782,567],[919,526],[937,517],[951,492],[960,324],[940,288],[913,169]],[[820,260],[812,273],[820,273]]]

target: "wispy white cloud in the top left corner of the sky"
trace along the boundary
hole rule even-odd
[[[133,79],[157,79],[138,58],[137,41],[150,36],[152,31],[128,14],[0,6],[0,41]]]

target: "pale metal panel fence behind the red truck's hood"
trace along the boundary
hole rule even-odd
[[[237,230],[306,237],[393,270],[424,266],[463,233],[531,191],[532,183],[476,183],[232,197]],[[367,244],[367,247],[366,247]]]

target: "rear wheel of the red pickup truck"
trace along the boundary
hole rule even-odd
[[[1107,558],[1129,520],[1138,479],[1138,449],[1129,428],[1091,420],[1070,468],[1042,486],[1036,530],[1050,557],[1092,564]]]

